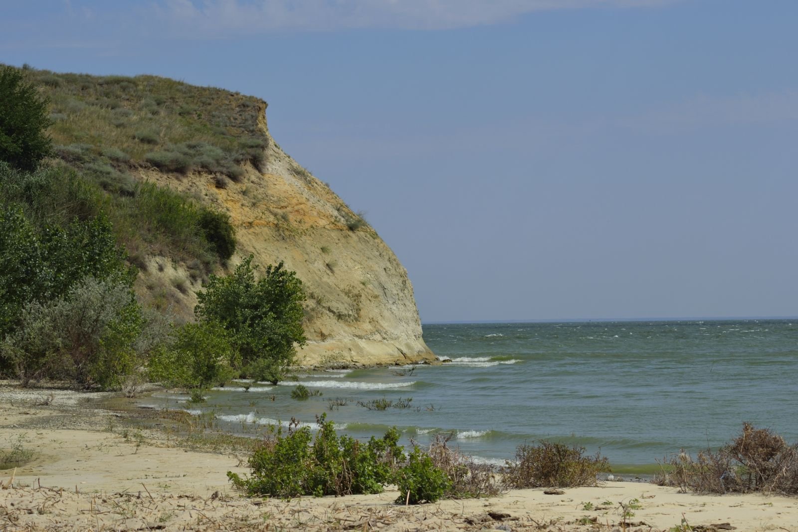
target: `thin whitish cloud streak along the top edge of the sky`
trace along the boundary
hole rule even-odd
[[[161,0],[163,22],[208,33],[394,28],[446,30],[535,11],[664,6],[685,0]]]

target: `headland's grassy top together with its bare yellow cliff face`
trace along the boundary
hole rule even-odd
[[[265,101],[152,76],[28,75],[51,101],[51,134],[66,164],[93,172],[113,193],[134,194],[128,181],[147,181],[229,213],[238,249],[216,273],[248,254],[297,272],[307,294],[301,363],[434,359],[405,268],[338,195],[282,152]],[[207,267],[163,246],[126,245],[145,304],[191,319]]]

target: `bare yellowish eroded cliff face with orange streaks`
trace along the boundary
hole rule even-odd
[[[148,179],[192,194],[227,211],[238,250],[231,260],[255,256],[259,265],[285,262],[304,283],[308,343],[298,351],[303,365],[393,364],[434,360],[421,337],[421,321],[407,271],[371,227],[310,175],[271,138],[266,102],[258,109],[268,146],[265,164],[247,164],[233,182],[219,175],[167,174],[140,169]],[[139,290],[160,290],[172,309],[188,319],[201,283],[185,265],[148,259]],[[169,281],[165,281],[169,280]]]

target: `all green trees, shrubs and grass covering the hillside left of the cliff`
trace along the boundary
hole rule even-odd
[[[41,97],[30,79],[48,84],[49,97]],[[235,176],[236,164],[259,164],[262,156],[263,143],[235,136],[254,131],[256,118],[231,118],[227,129],[211,128],[200,140],[172,144],[202,129],[202,113],[172,123],[167,112],[147,111],[140,96],[153,88],[165,95],[156,103],[164,108],[194,100],[224,108],[203,99],[203,91],[229,96],[152,77],[0,69],[0,374],[18,376],[26,385],[44,378],[80,388],[133,390],[149,366],[152,376],[201,397],[203,388],[250,371],[242,361],[268,368],[272,380],[293,362],[294,342],[304,341],[304,294],[294,272],[282,264],[268,266],[255,282],[249,258],[231,278],[212,275],[235,252],[227,215],[153,183],[135,183],[127,173],[152,159],[124,140],[134,127],[148,124],[159,126],[160,134],[128,136],[187,157],[188,167]],[[49,162],[48,100],[66,111],[63,117],[50,115],[53,138],[84,141],[57,145],[61,160]],[[139,114],[122,113],[129,120],[113,125],[120,131],[114,139],[103,133],[109,127],[104,120],[109,109],[125,105]],[[214,116],[211,124],[227,115]],[[124,152],[109,141],[132,148]],[[170,327],[164,316],[142,309],[132,290],[136,268],[128,266],[128,252],[140,266],[146,266],[145,253],[156,252],[195,265],[203,278],[210,275],[199,296],[199,323]]]

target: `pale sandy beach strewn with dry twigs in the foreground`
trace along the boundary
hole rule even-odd
[[[247,472],[245,452],[199,451],[168,424],[136,424],[130,412],[104,408],[111,398],[0,386],[0,450],[16,447],[30,459],[0,470],[0,530],[671,530],[686,522],[692,530],[798,531],[795,498],[631,482],[420,506],[394,504],[396,491],[247,499],[226,476]],[[624,522],[620,503],[633,499],[639,508]]]

